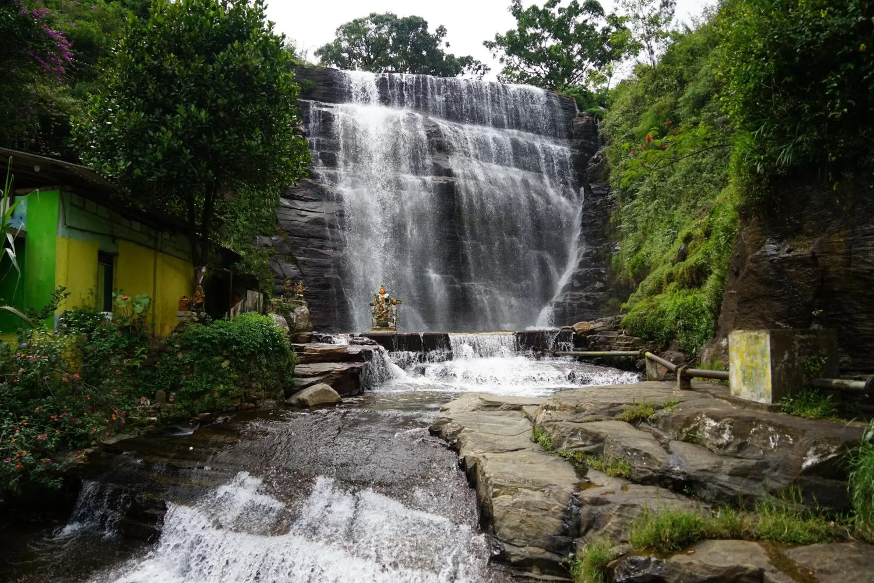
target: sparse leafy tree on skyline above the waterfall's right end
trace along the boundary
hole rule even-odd
[[[623,19],[605,15],[596,0],[566,7],[561,0],[547,0],[543,8],[522,8],[513,0],[510,13],[516,30],[496,34],[483,43],[503,65],[498,79],[546,89],[585,85],[589,75],[625,58],[632,49]]]

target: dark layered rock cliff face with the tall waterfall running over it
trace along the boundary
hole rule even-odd
[[[313,166],[282,195],[281,235],[261,243],[277,285],[309,288],[316,330],[368,328],[381,283],[405,300],[407,330],[545,325],[551,303],[556,325],[601,315],[614,199],[597,121],[571,98],[315,66],[297,79]],[[390,135],[354,115],[382,115]]]

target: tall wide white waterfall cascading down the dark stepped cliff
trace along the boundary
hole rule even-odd
[[[343,72],[310,101],[313,173],[342,206],[350,327],[380,286],[403,330],[522,330],[576,258],[581,194],[558,96],[536,87]]]

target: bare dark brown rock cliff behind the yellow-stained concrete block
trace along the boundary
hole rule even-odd
[[[774,194],[741,221],[711,351],[732,330],[835,328],[841,368],[874,372],[874,186],[794,177]]]

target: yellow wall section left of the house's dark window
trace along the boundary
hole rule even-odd
[[[55,242],[55,285],[65,286],[70,296],[60,310],[94,308],[97,294],[97,241],[57,237]]]

